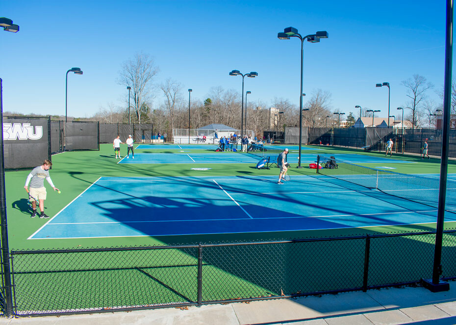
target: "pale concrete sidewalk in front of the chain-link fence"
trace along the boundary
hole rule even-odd
[[[422,287],[320,297],[75,316],[1,319],[0,325],[450,325],[456,324],[456,282],[450,291]]]

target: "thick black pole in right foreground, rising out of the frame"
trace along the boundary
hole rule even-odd
[[[432,285],[440,290],[449,290],[448,282],[440,281],[442,274],[442,241],[443,223],[445,216],[445,195],[447,190],[448,149],[450,144],[450,110],[451,110],[451,70],[453,57],[453,0],[447,0],[446,41],[445,41],[445,81],[443,89],[443,131],[442,131],[442,158],[440,161],[440,184],[438,193],[437,229],[435,234],[434,265],[432,269]],[[443,282],[443,283],[442,283]],[[431,289],[432,290],[432,289]],[[435,291],[435,290],[432,290]]]

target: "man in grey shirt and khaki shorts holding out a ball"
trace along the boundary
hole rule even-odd
[[[44,187],[44,179],[48,181],[48,183],[52,186],[54,191],[60,190],[54,186],[51,180],[51,176],[49,176],[49,168],[51,168],[52,163],[49,160],[45,160],[41,166],[33,168],[33,170],[28,174],[27,180],[25,181],[25,190],[28,192],[29,195],[29,202],[32,203],[32,214],[31,218],[36,216],[36,203],[39,201],[40,206],[40,218],[48,219],[49,216],[44,213],[44,200],[46,200],[46,187]],[[30,183],[30,190],[28,190],[28,184]]]

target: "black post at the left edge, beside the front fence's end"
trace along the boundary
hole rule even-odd
[[[3,277],[5,283],[6,317],[13,314],[13,296],[11,293],[11,270],[9,264],[8,225],[6,221],[5,161],[3,151],[3,98],[0,78],[0,232]]]

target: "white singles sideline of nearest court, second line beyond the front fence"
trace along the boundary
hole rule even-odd
[[[241,208],[242,209],[242,208]],[[381,212],[381,213],[359,213],[359,214],[335,214],[335,215],[309,215],[309,216],[296,216],[296,217],[265,217],[265,218],[252,218],[253,220],[269,220],[269,219],[299,219],[299,218],[332,218],[332,217],[357,217],[357,216],[375,216],[385,214],[405,214],[405,213],[427,213],[437,212],[438,210],[423,210],[423,211],[400,211],[400,212]],[[247,213],[247,212],[246,212]],[[250,216],[250,215],[249,215]],[[68,222],[68,223],[53,223],[51,225],[93,225],[93,224],[129,224],[129,223],[155,223],[155,222],[192,222],[192,221],[232,221],[232,220],[248,220],[245,218],[231,218],[231,219],[177,219],[177,220],[146,220],[146,221],[102,221],[102,222]]]

